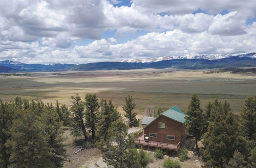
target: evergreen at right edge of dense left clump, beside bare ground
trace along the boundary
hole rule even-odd
[[[62,121],[59,120],[57,111],[49,104],[45,105],[40,121],[44,124],[45,132],[48,135],[48,146],[53,153],[50,159],[53,162],[54,167],[61,167],[66,155],[66,151],[63,148]]]

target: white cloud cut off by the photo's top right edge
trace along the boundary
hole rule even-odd
[[[201,9],[211,14],[218,14],[222,11],[239,11],[246,16],[256,14],[256,2],[248,0],[208,0],[208,1],[176,1],[176,0],[133,0],[134,8],[147,13],[188,14]]]

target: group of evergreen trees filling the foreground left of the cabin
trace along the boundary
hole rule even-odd
[[[129,126],[111,100],[99,100],[96,94],[87,94],[82,100],[76,94],[71,101],[68,108],[58,101],[53,105],[20,97],[10,102],[0,100],[0,167],[61,167],[66,157],[64,127],[102,151],[116,149],[112,142],[119,142],[122,149],[134,144],[132,136],[126,139],[127,129],[139,125],[132,96],[127,96],[123,106]],[[108,160],[109,152],[104,156]]]

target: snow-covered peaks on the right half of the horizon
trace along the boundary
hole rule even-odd
[[[239,57],[250,57],[250,58],[256,58],[256,53],[237,53],[237,54],[203,54],[203,55],[181,55],[178,57],[172,56],[172,57],[158,57],[158,58],[147,58],[147,59],[126,59],[122,60],[120,62],[125,63],[148,63],[148,62],[158,62],[163,60],[173,60],[173,59],[207,59],[207,60],[218,60],[223,59],[227,57],[233,57],[233,56],[239,56]]]

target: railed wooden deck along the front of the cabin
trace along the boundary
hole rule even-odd
[[[147,146],[147,147],[155,147],[155,148],[162,148],[168,150],[178,151],[180,148],[180,143],[177,145],[174,144],[165,144],[165,143],[158,143],[154,141],[145,141],[144,134],[139,134],[139,137],[135,140],[135,144]]]

